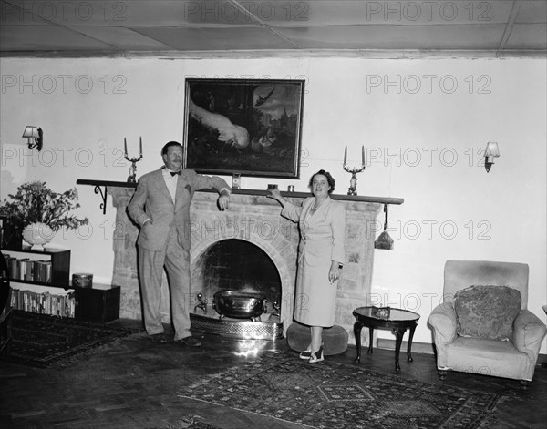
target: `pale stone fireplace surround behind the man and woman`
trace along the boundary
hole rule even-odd
[[[121,239],[113,240],[112,282],[122,288],[120,317],[140,319],[135,246],[139,230],[129,220],[126,211],[133,192],[134,189],[108,187],[117,209],[114,237]],[[268,314],[278,314],[283,332],[293,322],[299,232],[294,222],[280,216],[281,207],[276,201],[266,198],[265,193],[251,189],[234,190],[230,209],[225,211],[217,209],[216,193],[195,193],[190,227],[191,288],[188,305],[191,314],[218,320],[218,313],[212,309],[216,291],[255,290],[267,294]],[[293,193],[287,199],[300,205],[307,196]],[[352,311],[370,303],[374,240],[381,230],[377,214],[381,203],[387,199],[333,198],[340,200],[346,208],[346,263],[338,281],[335,323],[352,332],[355,322]],[[393,200],[396,204],[402,202]],[[243,253],[252,256],[242,257]],[[238,272],[243,275],[239,276]],[[164,322],[170,322],[169,288],[165,276],[161,288],[162,318]],[[199,307],[198,294],[207,300],[206,314]],[[268,321],[263,319],[263,322]],[[350,339],[352,337],[350,335]]]

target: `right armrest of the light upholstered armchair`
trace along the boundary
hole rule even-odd
[[[530,310],[522,310],[513,322],[512,343],[522,353],[528,354],[535,363],[547,333],[545,324]]]

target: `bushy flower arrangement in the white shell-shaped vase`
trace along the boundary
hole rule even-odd
[[[17,228],[25,228],[33,223],[45,223],[54,231],[61,228],[76,230],[87,225],[88,218],[78,219],[70,212],[80,207],[77,189],[57,193],[46,187],[46,182],[31,181],[17,188],[15,195],[8,194],[0,206],[0,214],[7,216]]]

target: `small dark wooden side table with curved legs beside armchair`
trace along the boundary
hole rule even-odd
[[[412,348],[412,338],[414,337],[414,331],[418,325],[419,314],[417,312],[409,312],[408,310],[401,310],[397,308],[378,308],[378,307],[359,307],[354,310],[353,315],[356,318],[354,323],[354,334],[356,336],[356,349],[357,357],[356,362],[361,361],[361,329],[363,326],[368,327],[369,342],[368,352],[372,353],[372,339],[375,328],[377,329],[390,329],[392,330],[397,339],[395,342],[395,369],[399,371],[401,366],[399,365],[399,352],[401,350],[401,342],[403,341],[403,335],[409,329],[408,337],[408,349],[407,357],[408,362],[412,362],[412,355],[410,349]]]

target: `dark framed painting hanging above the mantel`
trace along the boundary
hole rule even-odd
[[[184,166],[299,179],[304,80],[187,78]]]

